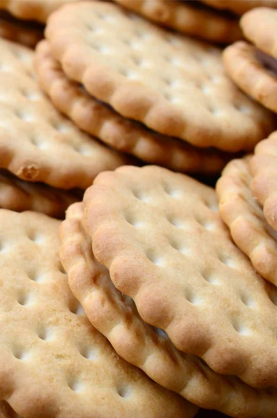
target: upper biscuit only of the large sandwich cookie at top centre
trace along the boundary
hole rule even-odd
[[[252,149],[276,124],[226,77],[220,49],[111,3],[68,4],[45,35],[70,79],[156,132],[232,152]]]

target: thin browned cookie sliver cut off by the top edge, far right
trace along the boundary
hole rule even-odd
[[[202,0],[202,3],[220,10],[230,10],[237,15],[260,6],[277,8],[276,0]]]

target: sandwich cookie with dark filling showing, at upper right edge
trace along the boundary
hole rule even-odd
[[[246,38],[225,49],[223,61],[232,80],[252,98],[277,113],[277,10],[255,8],[241,18]]]

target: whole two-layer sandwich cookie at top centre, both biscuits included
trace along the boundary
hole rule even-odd
[[[82,130],[144,162],[216,173],[276,126],[225,75],[219,48],[112,3],[70,3],[45,36],[36,52],[43,90]]]

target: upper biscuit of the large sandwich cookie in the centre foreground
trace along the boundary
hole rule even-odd
[[[214,189],[121,167],[94,180],[84,205],[93,254],[143,320],[218,373],[276,385],[277,289],[232,242]]]

